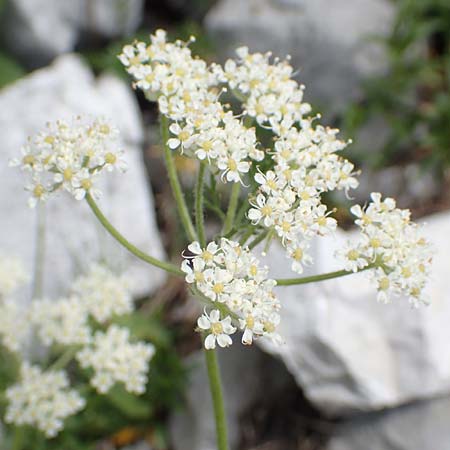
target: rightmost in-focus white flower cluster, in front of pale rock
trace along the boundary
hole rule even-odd
[[[432,251],[411,222],[409,210],[396,207],[395,200],[372,193],[366,208],[355,205],[351,212],[360,228],[360,239],[338,252],[346,270],[376,266],[371,276],[378,288],[378,300],[407,295],[412,304],[427,303],[423,288],[430,271]]]

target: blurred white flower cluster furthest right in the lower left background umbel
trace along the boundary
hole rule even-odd
[[[129,392],[142,394],[147,383],[147,371],[154,347],[143,342],[131,343],[127,328],[111,325],[103,333],[97,331],[90,345],[77,353],[82,367],[93,368],[91,384],[104,394],[116,382]]]

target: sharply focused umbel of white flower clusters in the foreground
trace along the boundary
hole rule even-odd
[[[323,194],[358,186],[354,165],[340,155],[349,142],[337,137],[337,129],[321,125],[320,116],[309,116],[311,106],[303,101],[304,86],[293,79],[289,58],[241,47],[222,67],[193,56],[188,44],[168,42],[158,30],[149,44],[125,46],[119,59],[134,86],[158,103],[168,128],[166,148],[199,160],[224,183],[254,187],[248,193],[248,224],[266,232],[267,242],[278,238],[292,270],[301,274],[313,263],[311,240],[337,226]],[[240,110],[223,100],[225,92],[235,96]],[[270,149],[259,142],[256,127],[271,133]],[[79,119],[73,126],[50,125],[30,139],[14,164],[30,175],[31,204],[60,190],[79,200],[98,196],[96,176],[124,166],[122,152],[113,145],[116,134],[103,120]],[[361,234],[338,252],[343,268],[367,269],[381,301],[404,294],[415,305],[425,303],[430,245],[393,199],[374,193],[371,200],[351,209]],[[205,303],[197,325],[207,348],[230,345],[237,329],[244,344],[259,337],[282,340],[276,331],[276,282],[250,246],[218,238],[207,245],[192,242],[189,249],[192,256],[182,271]]]

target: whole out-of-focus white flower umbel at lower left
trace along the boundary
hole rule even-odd
[[[0,284],[0,343],[21,361],[21,369],[19,381],[6,391],[7,423],[33,425],[53,437],[63,428],[64,419],[85,405],[77,390],[70,389],[64,370],[53,366],[43,370],[27,362],[27,342],[33,335],[48,348],[65,348],[62,357],[73,356],[81,367],[91,370],[90,383],[100,394],[116,383],[134,394],[145,391],[154,347],[133,342],[127,328],[111,323],[134,310],[128,278],[93,265],[75,281],[67,298],[34,300],[27,308],[5,296],[25,279],[14,259],[1,258],[0,268],[7,267],[8,261],[14,270],[1,273],[7,283]]]

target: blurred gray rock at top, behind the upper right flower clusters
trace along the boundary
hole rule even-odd
[[[385,70],[369,41],[388,33],[393,15],[387,0],[221,0],[205,24],[224,56],[240,45],[291,54],[306,99],[331,114],[358,95],[362,79]]]

